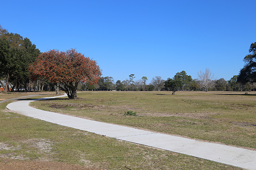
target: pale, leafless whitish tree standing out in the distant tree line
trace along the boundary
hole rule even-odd
[[[207,92],[208,88],[213,88],[215,85],[214,74],[209,70],[209,68],[205,68],[205,71],[198,72],[198,80],[200,85],[204,87],[204,91]]]

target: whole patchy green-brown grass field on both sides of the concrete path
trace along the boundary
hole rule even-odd
[[[50,99],[31,105],[102,122],[255,148],[253,93],[176,93],[93,91],[79,93],[75,100]],[[0,103],[0,157],[110,170],[239,169],[32,119],[7,111],[8,103]],[[138,116],[124,116],[126,111]]]

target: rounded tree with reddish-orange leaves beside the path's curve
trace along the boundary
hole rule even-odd
[[[69,99],[76,99],[79,82],[96,84],[102,75],[96,61],[84,57],[75,49],[44,52],[29,65],[29,71],[34,80],[55,83],[67,93]]]

